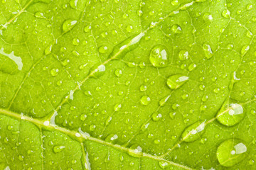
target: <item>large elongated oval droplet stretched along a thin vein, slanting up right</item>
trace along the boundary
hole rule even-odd
[[[193,142],[201,138],[205,132],[206,123],[205,121],[198,121],[188,126],[181,135],[181,138],[185,142]]]

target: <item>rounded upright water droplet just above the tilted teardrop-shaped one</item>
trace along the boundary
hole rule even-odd
[[[166,67],[168,64],[168,55],[164,45],[156,45],[150,52],[149,60],[154,67]]]

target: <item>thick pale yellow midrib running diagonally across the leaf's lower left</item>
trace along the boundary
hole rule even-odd
[[[37,125],[39,128],[45,128],[47,130],[57,130],[59,132],[64,133],[65,135],[69,135],[69,136],[73,137],[73,139],[78,140],[79,142],[84,141],[84,140],[89,140],[89,141],[92,141],[92,142],[99,143],[101,145],[112,147],[112,148],[117,149],[121,152],[132,153],[132,154],[135,154],[135,155],[137,154],[136,152],[134,152],[133,149],[129,149],[127,147],[122,147],[120,145],[114,145],[110,142],[106,142],[104,140],[100,140],[100,139],[97,139],[95,137],[90,137],[90,136],[87,136],[87,135],[80,134],[78,132],[75,132],[74,130],[68,130],[68,129],[65,129],[65,128],[61,128],[58,125],[51,125],[51,124],[50,125],[44,125],[43,121],[41,121],[41,120],[38,120],[38,119],[35,119],[35,118],[30,118],[27,115],[21,115],[21,114],[18,114],[18,113],[14,113],[14,112],[8,111],[4,108],[0,108],[0,115],[7,115],[11,118],[16,118],[18,120],[23,120],[23,121],[26,121],[26,122],[29,122],[29,123],[33,123],[34,125]],[[188,166],[184,166],[182,164],[177,164],[175,162],[170,162],[170,161],[168,161],[166,159],[163,159],[161,157],[157,157],[157,156],[147,154],[147,153],[144,153],[144,152],[142,152],[140,154],[137,154],[137,155],[138,156],[140,155],[140,157],[146,157],[146,158],[149,158],[149,159],[154,159],[158,162],[167,162],[168,164],[170,164],[172,166],[176,166],[176,167],[179,167],[179,168],[182,168],[182,169],[193,170],[193,169],[189,168]]]

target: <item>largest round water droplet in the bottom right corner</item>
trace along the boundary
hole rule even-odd
[[[218,147],[216,154],[222,166],[230,167],[247,157],[247,147],[239,139],[225,140]]]

